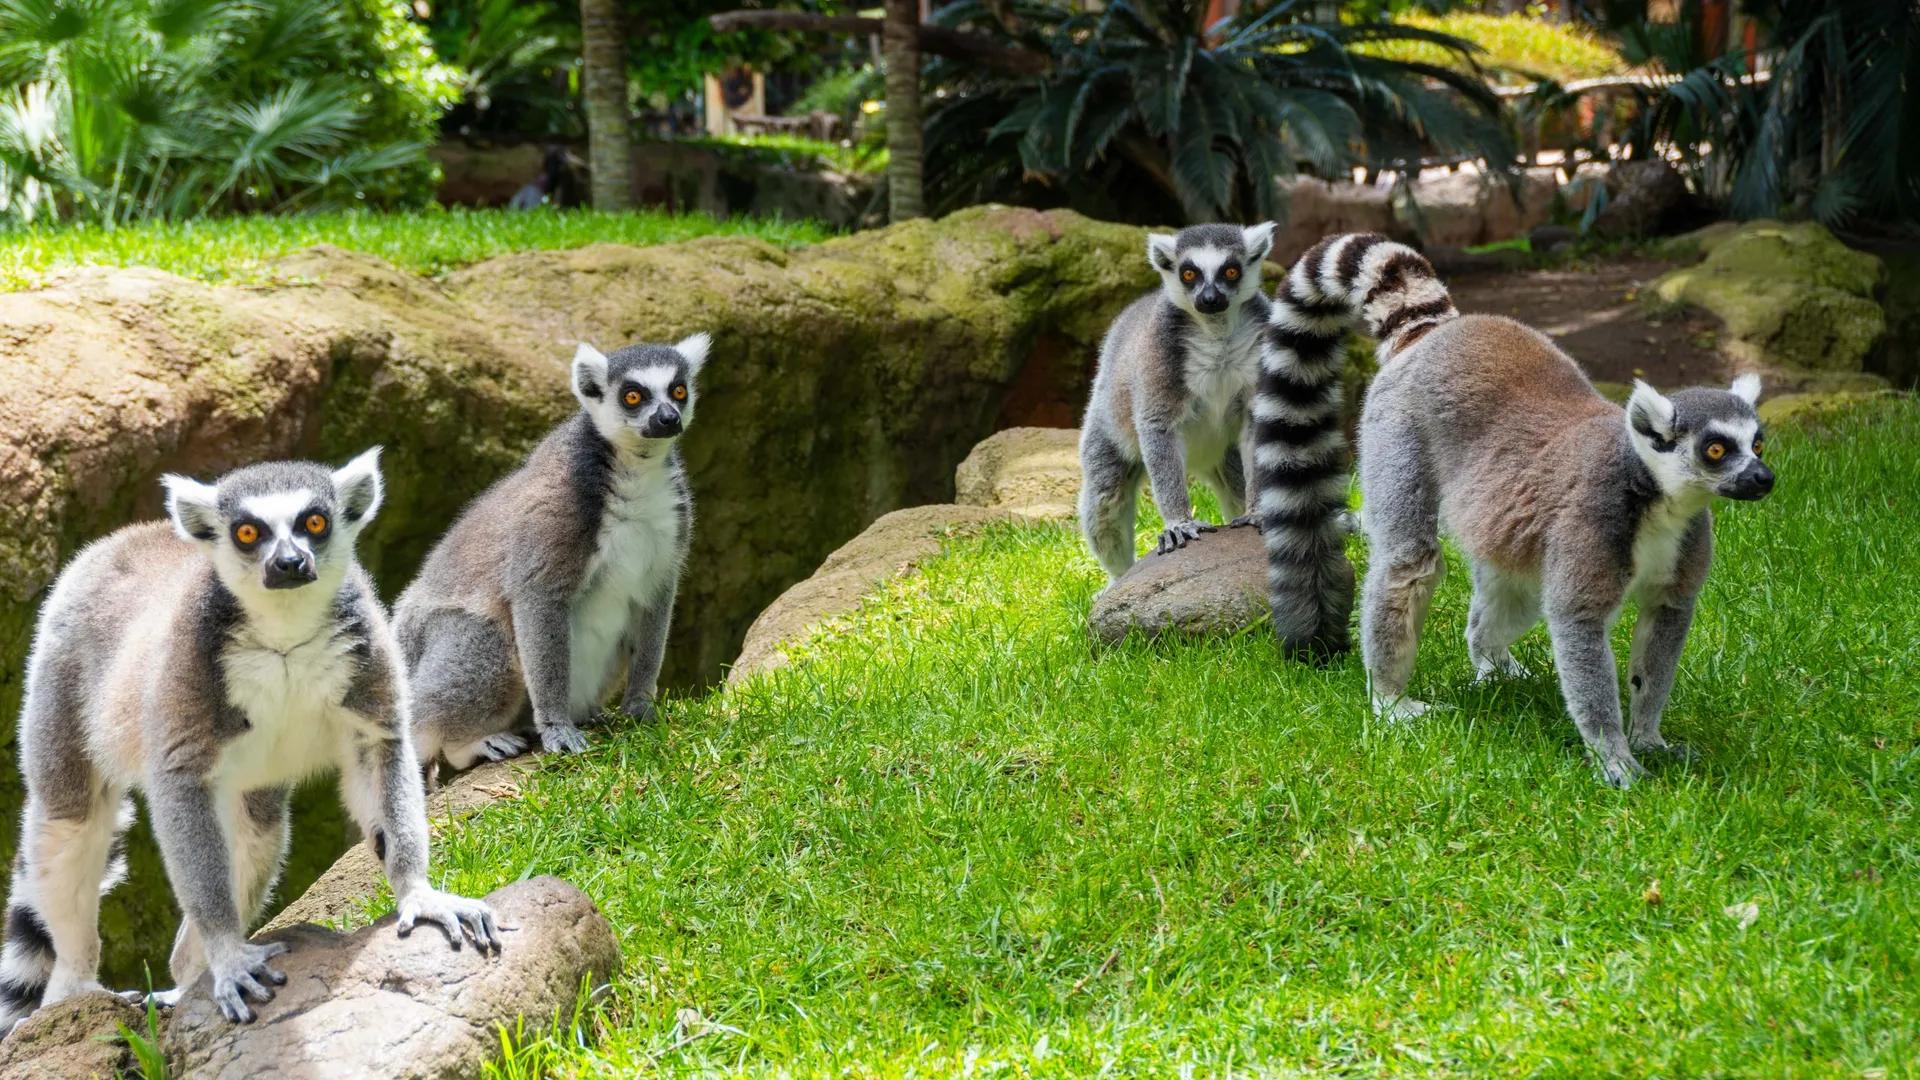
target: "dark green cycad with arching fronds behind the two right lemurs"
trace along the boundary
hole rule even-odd
[[[1206,0],[1066,4],[960,0],[935,21],[1048,58],[1008,75],[935,65],[927,184],[937,209],[1058,202],[1102,215],[1252,221],[1306,169],[1484,158],[1513,142],[1500,102],[1465,69],[1388,60],[1365,42],[1413,40],[1469,58],[1465,40],[1392,23],[1315,21],[1309,6],[1250,4],[1204,25]]]

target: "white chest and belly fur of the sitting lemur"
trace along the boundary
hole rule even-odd
[[[668,454],[614,454],[593,557],[568,617],[568,705],[576,715],[599,705],[618,671],[634,609],[657,600],[680,573],[678,502]]]

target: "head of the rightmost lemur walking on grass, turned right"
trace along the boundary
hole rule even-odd
[[[1753,404],[1761,379],[1741,375],[1728,390],[1693,388],[1670,398],[1634,382],[1626,402],[1626,436],[1661,492],[1711,492],[1732,500],[1759,500],[1774,490],[1766,467],[1766,434]]]

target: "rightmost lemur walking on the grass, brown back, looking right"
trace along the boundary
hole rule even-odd
[[[1473,561],[1467,650],[1482,678],[1519,675],[1509,648],[1546,615],[1561,694],[1609,784],[1644,773],[1634,749],[1684,751],[1661,736],[1661,711],[1713,563],[1707,507],[1774,486],[1759,377],[1670,398],[1636,382],[1622,409],[1546,334],[1459,315],[1427,259],[1382,236],[1321,240],[1296,271],[1327,319],[1352,313],[1380,342],[1359,419],[1375,709],[1425,711],[1404,694],[1444,528]],[[1607,630],[1628,600],[1640,615],[1622,726]]]

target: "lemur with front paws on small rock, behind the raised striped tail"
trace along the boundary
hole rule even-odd
[[[1235,525],[1248,523],[1240,438],[1267,319],[1260,263],[1271,248],[1271,221],[1146,238],[1162,288],[1114,319],[1081,423],[1081,532],[1108,578],[1133,565],[1142,473],[1165,521],[1162,553],[1213,530],[1192,519],[1188,473]]]

